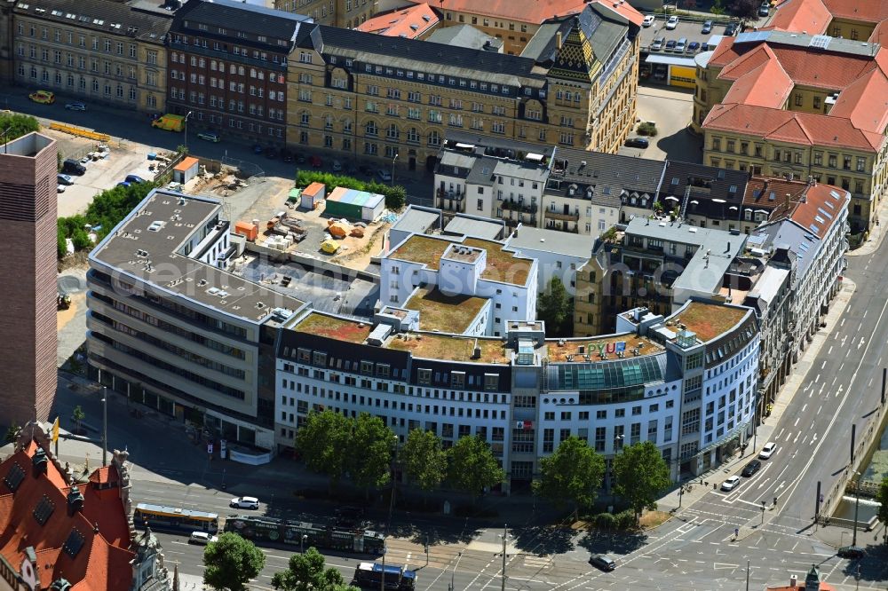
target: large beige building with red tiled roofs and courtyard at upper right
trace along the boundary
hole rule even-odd
[[[880,45],[744,33],[697,57],[692,126],[705,137],[710,166],[849,191],[852,232],[867,232],[888,180],[886,93],[888,51]]]

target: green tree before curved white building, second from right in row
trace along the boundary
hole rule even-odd
[[[605,459],[583,439],[571,436],[562,441],[555,453],[540,460],[540,479],[534,481],[534,493],[574,510],[591,507],[605,476]]]

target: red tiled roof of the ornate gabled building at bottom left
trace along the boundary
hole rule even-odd
[[[46,473],[35,476],[31,456],[36,448],[32,442],[26,450],[13,453],[0,464],[0,477],[9,473],[13,463],[25,472],[15,493],[0,480],[0,554],[18,566],[25,549],[33,547],[43,588],[61,577],[70,581],[75,591],[129,588],[130,561],[135,555],[128,549],[129,525],[116,490],[97,491],[93,485],[79,485],[84,497],[83,512],[68,515],[67,493],[71,487],[52,458],[47,461]],[[110,478],[110,470],[106,472]],[[93,476],[96,481],[101,479],[99,475]],[[115,502],[109,501],[108,496]],[[54,508],[41,525],[34,517],[34,508],[44,497]],[[97,523],[99,532],[94,531]],[[62,548],[74,529],[83,536],[83,548],[72,558]]]

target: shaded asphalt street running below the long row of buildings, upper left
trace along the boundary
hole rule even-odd
[[[197,128],[192,124],[187,131],[186,137],[182,133],[173,133],[165,130],[158,130],[150,125],[147,114],[134,114],[131,111],[124,111],[115,107],[104,105],[92,105],[86,102],[86,111],[68,111],[65,109],[65,103],[71,100],[83,100],[76,97],[65,97],[56,93],[56,102],[53,105],[42,105],[28,100],[28,92],[34,89],[25,89],[22,87],[10,87],[0,93],[0,105],[4,109],[10,109],[17,113],[27,113],[34,115],[38,119],[56,122],[64,122],[71,125],[81,126],[91,130],[97,130],[107,133],[114,138],[122,138],[130,142],[137,142],[147,146],[156,146],[167,150],[175,150],[177,146],[186,143],[191,154],[221,160],[224,157],[234,161],[240,160],[248,162],[261,169],[266,177],[283,177],[293,178],[296,176],[296,170],[299,165],[287,164],[281,160],[268,160],[264,155],[253,154],[251,146],[245,146],[233,141],[221,141],[211,143],[197,138]],[[297,151],[305,156],[313,155],[302,150]],[[325,154],[318,154],[323,161],[324,170],[330,170],[332,159]],[[347,165],[354,158],[352,154],[346,154],[341,157],[340,162]],[[355,166],[358,164],[367,164],[372,169],[385,168],[392,170],[391,162],[385,163],[385,160],[361,160],[353,162]],[[250,167],[252,168],[252,167]],[[358,174],[365,180],[369,179],[364,175]],[[396,168],[394,182],[404,186],[408,195],[415,196],[417,203],[424,198],[432,197],[432,185],[434,178],[431,174],[425,173],[423,170],[408,171],[407,169]]]

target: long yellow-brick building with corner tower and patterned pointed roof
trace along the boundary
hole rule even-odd
[[[523,56],[304,29],[290,146],[431,170],[448,130],[615,152],[635,121],[639,27],[607,4],[552,23]]]

